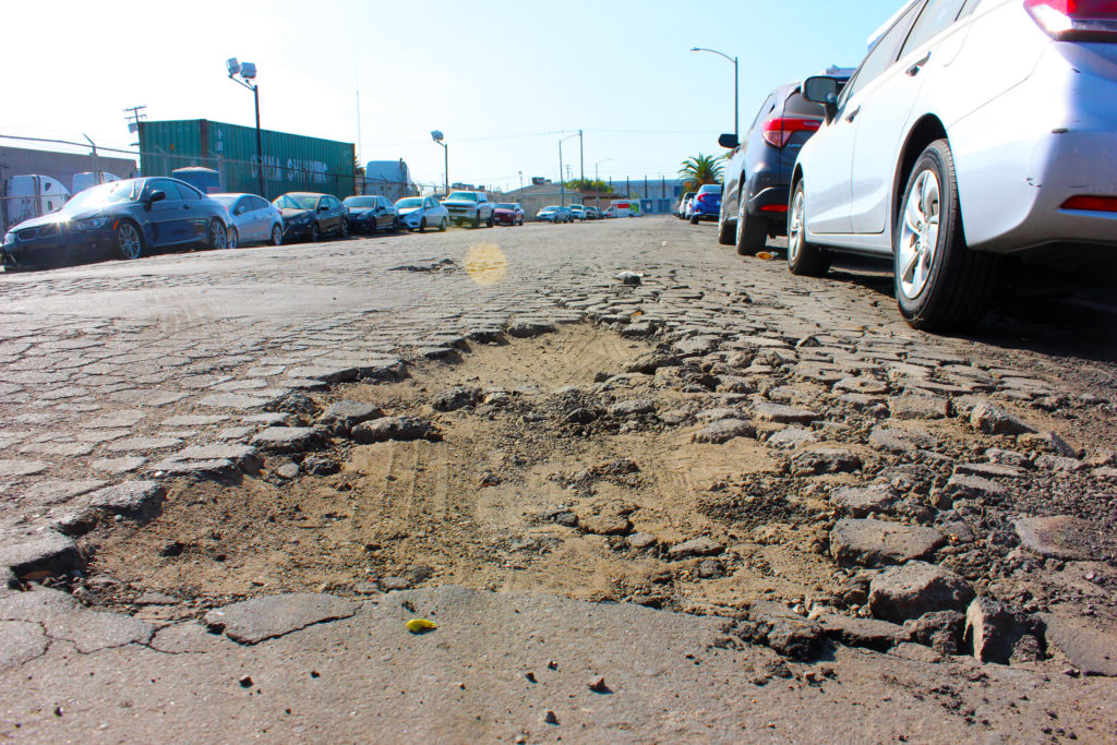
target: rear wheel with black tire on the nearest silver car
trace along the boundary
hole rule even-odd
[[[946,140],[919,155],[892,230],[892,285],[914,328],[972,328],[993,302],[1003,260],[966,245],[954,156]]]

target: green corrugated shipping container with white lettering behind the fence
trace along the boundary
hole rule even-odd
[[[353,143],[261,130],[264,197],[315,191],[344,199],[355,188]],[[256,130],[208,120],[140,123],[140,171],[171,175],[175,169],[209,168],[221,174],[221,188],[260,192]]]

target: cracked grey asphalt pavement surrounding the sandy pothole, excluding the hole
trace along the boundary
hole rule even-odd
[[[626,285],[622,271],[642,280]],[[370,727],[383,739],[528,742],[1117,737],[1111,679],[1076,677],[1106,672],[1106,660],[1091,661],[1089,650],[1111,647],[1117,628],[1111,311],[1063,300],[1010,305],[976,336],[933,337],[903,324],[889,284],[887,273],[861,262],[824,279],[794,278],[782,262],[741,259],[717,246],[709,226],[668,218],[4,276],[0,565],[22,582],[0,589],[0,733],[190,738],[202,732],[195,727],[204,713],[221,722],[206,729],[212,737],[285,741],[353,737]],[[770,647],[779,647],[783,625],[793,625],[794,637],[798,621],[760,602],[695,615],[424,585],[360,603],[315,593],[294,604],[249,600],[257,605],[245,629],[230,633],[209,614],[206,623],[144,620],[35,589],[69,590],[66,577],[84,579],[86,536],[98,534],[98,523],[157,519],[164,484],[256,470],[274,450],[261,432],[287,423],[281,401],[293,392],[394,380],[417,366],[452,364],[479,340],[583,322],[668,344],[693,364],[696,378],[665,384],[701,402],[680,420],[696,428],[696,414],[736,407],[732,417],[709,414],[703,426],[713,429],[703,437],[756,439],[785,468],[780,478],[821,485],[800,496],[833,505],[833,517],[824,528],[803,528],[810,534],[798,541],[881,586],[880,566],[933,558],[983,595],[1043,619],[1047,662],[943,661],[928,656],[930,642],[898,637],[888,639],[887,653],[870,651],[861,642],[872,633],[841,619],[909,617],[895,603],[875,611],[876,620],[859,615],[867,599],[820,603],[842,611],[825,619],[846,624],[831,634],[844,641],[832,659],[789,663]],[[642,414],[610,416],[637,422]],[[747,426],[726,424],[734,421]],[[947,424],[967,434],[960,440]],[[839,484],[849,493],[818,480],[839,471],[853,472]],[[918,504],[900,504],[900,493]],[[715,509],[731,507],[739,509],[715,499]],[[879,537],[880,517],[903,541]],[[1056,517],[1063,522],[1018,527]],[[754,546],[785,538],[750,527]],[[686,545],[665,548],[681,558]],[[884,609],[885,590],[877,596]],[[455,622],[401,636],[402,603]],[[542,677],[548,656],[560,661],[561,696],[524,682],[525,671]],[[357,676],[346,661],[367,672]],[[98,688],[106,676],[112,684],[95,690],[80,682],[93,674]],[[251,685],[238,682],[245,675]],[[619,679],[618,691],[585,694],[582,679],[591,675]],[[393,678],[399,686],[378,682]],[[176,685],[183,693],[175,704],[161,705]],[[330,698],[308,686],[328,687]],[[273,701],[275,694],[286,698]],[[562,710],[556,696],[574,703]],[[330,705],[313,713],[324,700]],[[557,726],[544,723],[544,709]]]

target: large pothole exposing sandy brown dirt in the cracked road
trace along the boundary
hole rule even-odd
[[[821,591],[832,565],[809,518],[819,505],[785,494],[745,524],[719,514],[727,488],[782,464],[748,437],[695,442],[708,392],[682,392],[677,367],[594,386],[649,350],[571,325],[400,382],[336,388],[318,403],[375,403],[433,422],[440,439],[338,439],[321,453],[341,466],[330,476],[281,481],[275,472],[289,458],[273,456],[236,484],[179,481],[157,520],[87,538],[93,572],[112,579],[92,586],[104,602],[131,604],[141,590],[219,602],[457,583],[679,609]],[[456,385],[483,399],[436,411]],[[750,509],[746,500],[735,514]],[[774,520],[786,535],[752,543],[750,528]],[[669,553],[703,536],[724,551]]]

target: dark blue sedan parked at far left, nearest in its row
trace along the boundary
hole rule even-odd
[[[57,212],[27,220],[3,237],[3,267],[140,258],[154,249],[225,248],[229,212],[176,179],[128,179],[78,192]]]

